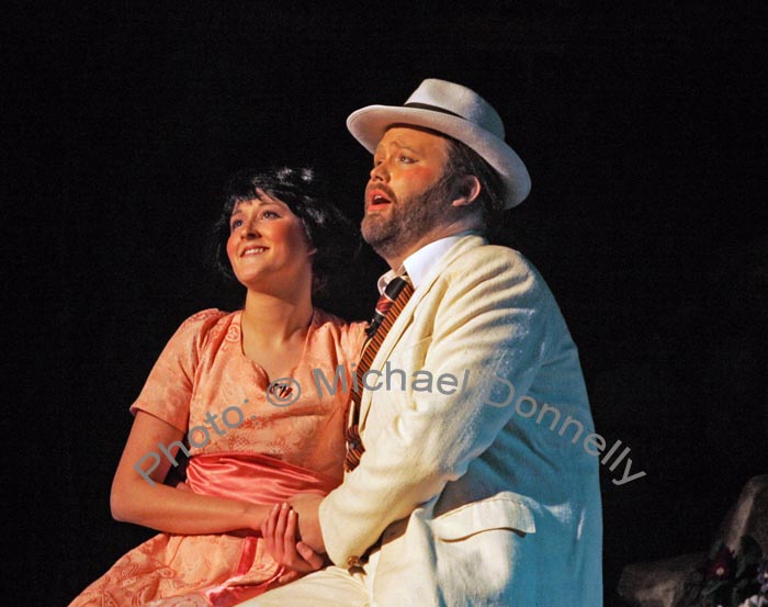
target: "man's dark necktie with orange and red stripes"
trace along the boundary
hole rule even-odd
[[[371,325],[368,328],[368,339],[360,356],[360,362],[354,371],[355,381],[352,385],[352,391],[349,395],[347,405],[347,419],[349,420],[349,411],[352,409],[352,419],[348,423],[347,437],[347,458],[345,459],[345,470],[351,472],[360,463],[365,448],[360,438],[360,402],[362,401],[363,375],[371,369],[373,359],[376,358],[376,352],[384,341],[386,334],[394,324],[397,315],[403,311],[405,304],[408,303],[410,295],[414,294],[414,286],[408,280],[408,276],[393,278],[386,285],[384,293],[376,302],[376,310],[373,313]]]

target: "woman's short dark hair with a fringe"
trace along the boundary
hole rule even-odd
[[[225,278],[237,282],[227,257],[231,212],[238,203],[260,198],[258,190],[285,203],[301,220],[307,240],[317,249],[312,265],[312,292],[313,295],[325,293],[329,282],[350,267],[360,250],[361,240],[350,220],[330,202],[330,192],[313,168],[246,169],[227,181],[222,214],[214,224],[212,235],[216,269]]]

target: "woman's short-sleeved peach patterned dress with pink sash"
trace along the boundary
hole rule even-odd
[[[294,382],[270,400],[270,379],[242,352],[241,314],[206,310],[188,318],[131,411],[184,432],[191,456],[185,482],[194,492],[257,504],[300,492],[325,495],[343,475],[348,393],[335,372],[341,366],[351,386],[365,325],[315,310],[301,362],[290,374]],[[157,456],[166,457],[160,448]],[[147,458],[142,469],[153,461]],[[282,573],[258,531],[159,533],[121,558],[70,607],[224,607],[276,586]]]

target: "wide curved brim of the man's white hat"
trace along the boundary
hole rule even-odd
[[[517,206],[531,191],[531,178],[517,153],[493,133],[460,116],[422,108],[368,105],[352,112],[347,119],[349,132],[371,154],[393,124],[431,128],[470,146],[501,178],[505,209]]]

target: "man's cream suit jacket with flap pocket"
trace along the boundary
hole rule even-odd
[[[365,452],[320,505],[330,559],[353,564],[381,537],[379,607],[600,607],[587,393],[576,347],[531,263],[482,236],[461,238],[418,285],[372,369],[384,373],[386,363],[422,371],[422,383],[391,375],[388,390],[364,391]],[[440,374],[462,383],[467,370],[464,390],[438,391]],[[554,409],[561,426],[567,416],[583,425],[576,442],[577,424],[561,435]]]

